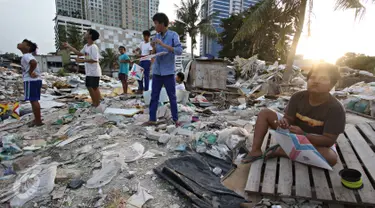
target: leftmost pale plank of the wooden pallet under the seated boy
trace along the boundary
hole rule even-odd
[[[265,151],[270,133],[268,132],[265,136],[262,145],[262,151]],[[248,192],[259,192],[260,179],[262,174],[263,159],[257,160],[251,164],[249,176],[247,178],[245,191]]]

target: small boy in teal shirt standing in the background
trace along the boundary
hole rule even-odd
[[[129,76],[129,64],[131,63],[130,58],[126,55],[126,48],[124,46],[119,47],[120,56],[118,58],[120,65],[120,72],[118,78],[122,83],[122,89],[124,95],[128,94],[128,76]]]

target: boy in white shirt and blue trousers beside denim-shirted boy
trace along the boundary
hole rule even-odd
[[[148,30],[143,31],[143,42],[139,45],[139,48],[137,48],[135,51],[140,53],[138,57],[145,57],[151,54],[152,46],[150,43],[150,36],[151,33]],[[151,59],[142,60],[139,63],[139,66],[141,66],[143,71],[143,80],[138,80],[138,93],[142,94],[143,91],[149,90],[149,84],[150,84],[150,68],[151,68]],[[143,85],[144,81],[144,85]]]

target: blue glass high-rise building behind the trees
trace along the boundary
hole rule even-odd
[[[207,0],[206,7],[203,9],[203,17],[216,13],[212,20],[212,25],[218,33],[223,31],[220,27],[221,19],[228,18],[231,14],[241,13],[251,6],[255,5],[259,0]],[[202,35],[200,40],[201,56],[212,55],[218,57],[222,46],[217,40]]]

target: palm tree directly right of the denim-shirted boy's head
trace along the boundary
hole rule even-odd
[[[200,4],[199,0],[181,1],[181,6],[175,5],[177,8],[177,20],[175,24],[183,27],[186,34],[191,38],[191,58],[194,58],[194,48],[197,44],[197,35],[207,35],[209,37],[217,37],[217,31],[211,24],[213,15],[207,18],[203,17],[204,6],[206,1]]]

